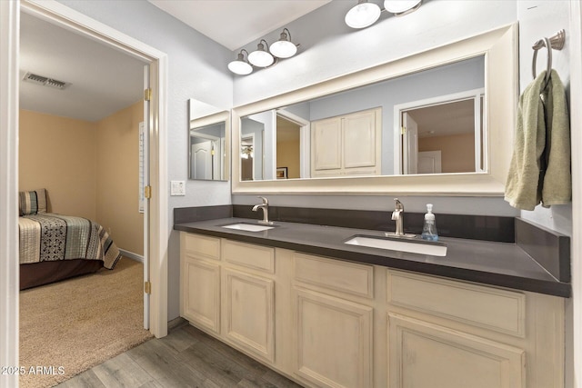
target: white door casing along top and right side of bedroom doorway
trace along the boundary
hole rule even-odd
[[[150,185],[153,193],[149,200],[151,282],[149,323],[151,333],[158,338],[164,337],[167,334],[167,242],[170,233],[167,228],[168,198],[167,190],[165,190],[167,187],[167,55],[54,0],[23,0],[20,6],[28,14],[35,15],[35,17],[59,25],[76,34],[85,35],[149,63],[150,87],[153,91],[149,115]],[[15,49],[18,50],[17,44]],[[12,76],[14,79],[18,77],[17,66]],[[12,109],[15,114],[18,113],[17,104],[13,104]],[[18,160],[15,158],[15,164],[17,162]],[[17,184],[10,187],[9,190],[16,194]],[[17,255],[15,260],[17,260]]]

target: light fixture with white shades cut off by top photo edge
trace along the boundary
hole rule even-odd
[[[368,0],[357,0],[346,14],[346,25],[352,28],[366,28],[376,23],[382,11],[395,16],[403,16],[416,11],[422,5],[422,0],[384,0],[384,8]]]

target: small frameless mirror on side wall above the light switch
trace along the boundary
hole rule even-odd
[[[228,180],[230,113],[188,100],[188,179]]]

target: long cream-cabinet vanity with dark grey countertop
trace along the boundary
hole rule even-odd
[[[379,231],[176,224],[191,324],[305,386],[561,387],[570,286],[518,244],[444,257],[345,244]]]

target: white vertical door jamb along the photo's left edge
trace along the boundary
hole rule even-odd
[[[0,1],[0,365],[18,365],[18,45],[20,5]],[[6,258],[14,258],[6,260]],[[18,386],[0,373],[0,386]]]

